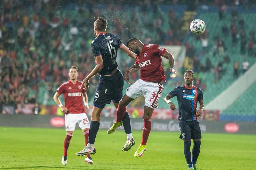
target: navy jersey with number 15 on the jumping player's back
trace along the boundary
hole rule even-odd
[[[94,57],[102,56],[104,68],[100,70],[100,75],[110,74],[117,67],[116,54],[117,49],[123,43],[121,40],[112,33],[102,32],[96,39],[92,41],[92,51]]]

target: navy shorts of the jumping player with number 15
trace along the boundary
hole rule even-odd
[[[119,103],[123,97],[123,89],[124,76],[120,70],[117,70],[114,75],[100,75],[93,106],[104,108],[106,104],[110,104],[111,100],[115,103]]]

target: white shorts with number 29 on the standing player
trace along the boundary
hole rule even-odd
[[[74,131],[76,128],[76,123],[83,130],[86,128],[90,128],[90,123],[88,117],[85,113],[78,114],[66,114],[65,115],[65,126],[66,131]]]

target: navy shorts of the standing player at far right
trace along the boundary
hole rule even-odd
[[[187,122],[179,122],[180,125],[180,139],[191,140],[202,138],[201,129],[197,120]]]

